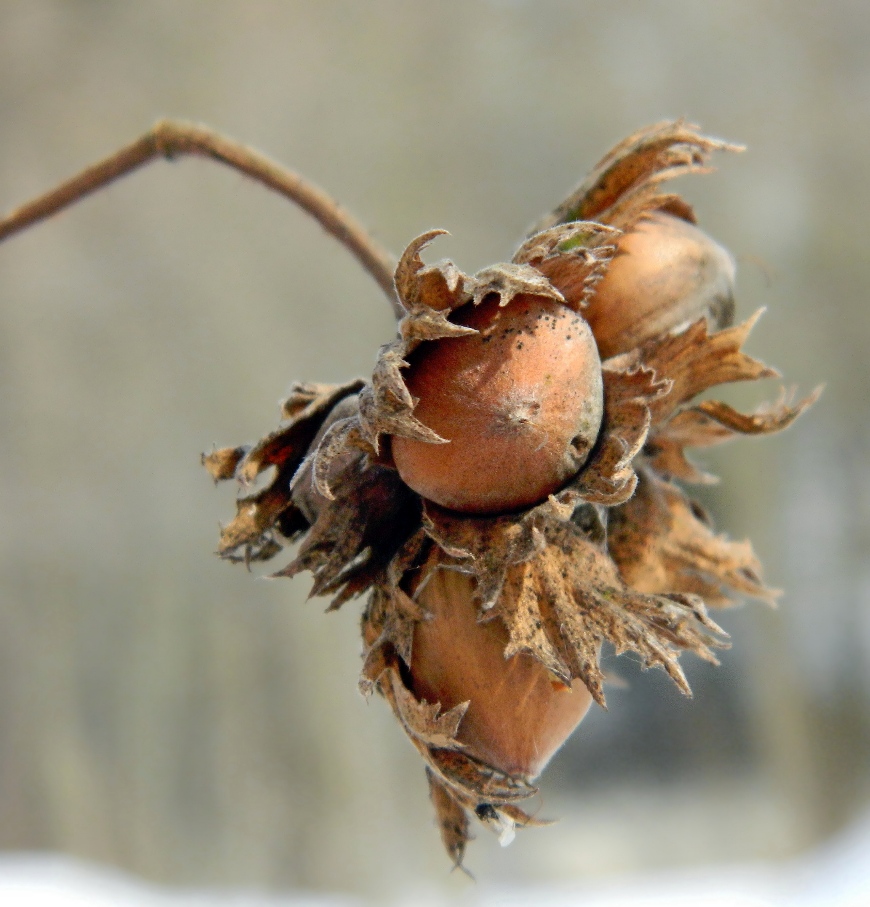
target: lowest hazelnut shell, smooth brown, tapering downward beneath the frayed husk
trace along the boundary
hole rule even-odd
[[[533,779],[568,739],[592,702],[585,685],[554,681],[531,655],[504,657],[508,631],[479,623],[473,581],[437,570],[418,602],[433,617],[414,631],[413,691],[442,711],[470,701],[457,739],[470,755],[509,775]]]

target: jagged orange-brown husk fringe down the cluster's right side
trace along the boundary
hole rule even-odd
[[[717,400],[692,403],[720,384],[778,376],[742,351],[760,314],[713,333],[700,318],[680,333],[606,363],[648,368],[670,381],[666,392],[649,401],[649,433],[635,460],[640,485],[610,514],[608,550],[623,580],[638,591],[696,594],[711,606],[730,605],[735,594],[769,602],[776,598],[776,590],[761,580],[751,544],[716,534],[703,508],[672,481],[716,481],[687,458],[687,447],[781,431],[818,399],[820,388],[795,404],[783,394],[777,403],[748,414]]]

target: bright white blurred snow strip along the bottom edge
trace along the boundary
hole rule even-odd
[[[0,857],[0,907],[361,907],[343,895],[185,891],[60,856]],[[460,895],[409,893],[394,907],[870,907],[870,815],[801,859],[711,866],[594,885],[500,889],[486,879]]]

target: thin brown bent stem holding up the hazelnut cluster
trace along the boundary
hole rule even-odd
[[[77,176],[16,208],[0,219],[0,242],[75,204],[91,192],[158,157],[182,154],[211,158],[239,170],[306,210],[327,233],[344,245],[386,293],[397,317],[404,312],[393,284],[395,260],[338,203],[292,170],[204,126],[161,120],[140,139],[92,164]]]

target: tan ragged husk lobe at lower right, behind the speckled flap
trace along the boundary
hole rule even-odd
[[[623,582],[639,592],[690,593],[710,605],[734,593],[771,601],[748,541],[717,535],[676,486],[645,471],[634,497],[611,514],[608,545]]]

